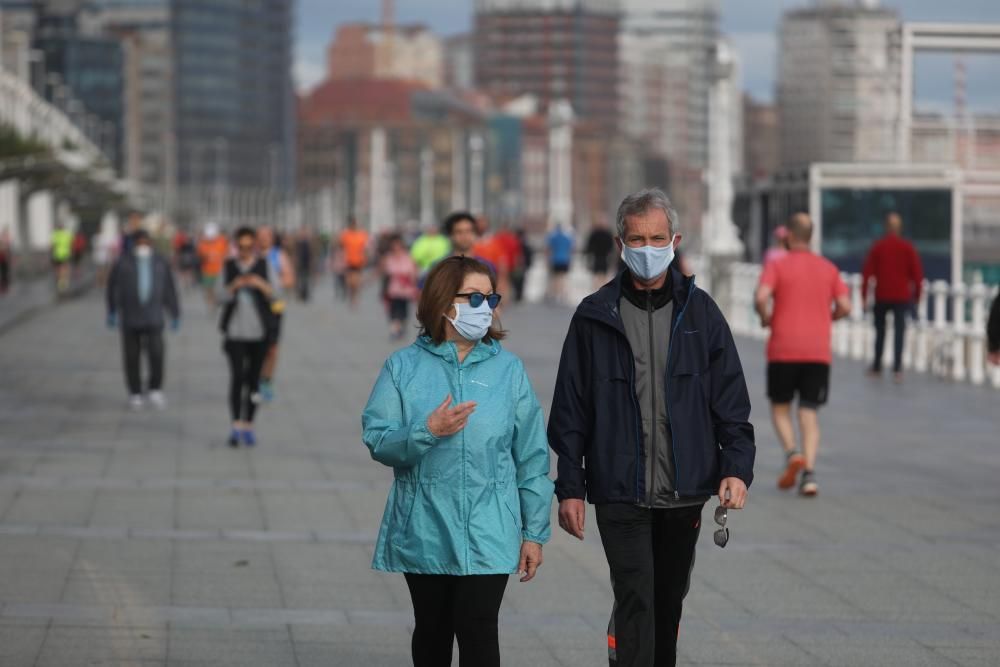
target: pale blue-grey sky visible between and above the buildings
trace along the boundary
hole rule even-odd
[[[777,42],[783,10],[808,0],[722,0],[722,31],[739,51],[743,83],[759,99],[773,97]],[[910,21],[1000,23],[1000,0],[886,0]],[[298,0],[296,78],[300,88],[318,82],[325,69],[326,46],[337,24],[375,21],[377,0]],[[396,0],[399,22],[419,22],[451,35],[469,29],[473,0]],[[969,106],[1000,112],[1000,56],[967,56]],[[921,107],[948,109],[953,97],[954,58],[918,55],[916,99]]]

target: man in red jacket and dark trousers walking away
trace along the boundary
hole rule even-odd
[[[885,348],[885,316],[892,312],[893,340],[892,372],[896,382],[903,380],[903,337],[906,318],[920,300],[924,270],[913,244],[904,239],[903,219],[896,212],[885,217],[885,236],[875,242],[865,258],[862,270],[864,282],[861,300],[867,308],[868,286],[875,278],[875,362],[869,373],[882,374],[882,350]]]

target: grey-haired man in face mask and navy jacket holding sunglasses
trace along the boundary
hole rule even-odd
[[[584,538],[585,505],[611,570],[611,665],[674,665],[702,507],[746,503],[750,399],[718,306],[674,261],[677,213],[660,190],[618,208],[627,269],[585,298],[563,344],[549,418],[559,525]],[[715,536],[725,546],[728,532]]]

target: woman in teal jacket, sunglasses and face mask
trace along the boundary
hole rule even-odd
[[[392,466],[373,567],[403,572],[413,663],[499,667],[509,575],[529,581],[548,541],[552,482],[538,399],[500,346],[496,278],[452,257],[427,276],[420,336],[386,361],[362,417],[372,458]]]

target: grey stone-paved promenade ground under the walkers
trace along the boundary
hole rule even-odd
[[[409,664],[406,586],[369,567],[391,472],[359,437],[393,348],[371,293],[357,313],[331,300],[290,309],[253,451],[225,445],[196,294],[163,412],[127,410],[96,295],[0,335],[0,665]],[[506,313],[546,406],[569,316]],[[1000,665],[1000,394],[838,362],[806,500],[774,486],[763,353],[741,350],[758,478],[725,550],[702,533],[681,664]],[[606,665],[593,513],[585,542],[554,535],[536,581],[509,585],[504,664]]]

